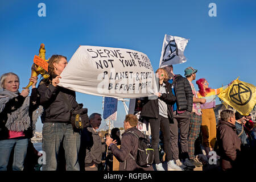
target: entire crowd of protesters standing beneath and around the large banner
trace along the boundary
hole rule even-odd
[[[55,171],[61,165],[71,171],[113,170],[113,157],[118,160],[120,171],[165,171],[159,155],[160,141],[163,143],[168,171],[202,167],[205,160],[199,157],[203,154],[198,152],[202,151],[201,147],[206,159],[211,157],[210,151],[217,148],[216,159],[220,159],[223,171],[255,168],[256,135],[250,115],[223,110],[220,121],[216,122],[214,98],[228,85],[211,89],[207,80],[200,78],[196,81],[199,87],[199,91],[196,91],[192,81],[196,79],[197,69],[186,68],[183,77],[174,73],[172,65],[159,68],[156,71],[159,78],[156,98],[145,98],[138,110],[141,111],[140,117],[150,123],[150,143],[154,150],[154,164],[145,167],[139,166],[136,160],[138,138],[148,138],[137,129],[136,115],[126,115],[123,122],[125,132],[121,136],[118,129],[113,129],[111,134],[102,136],[104,141],[97,131],[101,125],[99,113],[91,114],[88,126],[80,132],[74,131],[70,122],[70,107],[77,110],[81,108],[80,104],[74,91],[57,86],[67,64],[67,57],[51,56],[48,61],[49,77],[43,78],[38,88],[38,78],[30,78],[33,82],[31,96],[28,96],[29,89],[19,93],[19,77],[15,73],[1,76],[1,171],[7,170],[11,159],[11,170],[24,169],[25,158],[31,155],[28,146],[39,116],[43,123],[43,171]],[[102,161],[105,161],[104,165]]]

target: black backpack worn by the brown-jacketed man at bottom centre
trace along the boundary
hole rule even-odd
[[[151,143],[146,138],[139,137],[134,131],[129,131],[128,133],[132,133],[139,140],[136,163],[141,167],[150,167],[154,161],[154,149]],[[131,153],[130,156],[135,160]]]

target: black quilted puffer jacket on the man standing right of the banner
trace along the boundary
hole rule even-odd
[[[176,75],[173,81],[175,96],[177,97],[177,110],[192,112],[193,93],[187,78]]]

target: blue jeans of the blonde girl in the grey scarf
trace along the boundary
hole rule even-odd
[[[11,150],[14,148],[13,171],[22,171],[27,154],[27,138],[0,140],[0,171],[6,171]]]

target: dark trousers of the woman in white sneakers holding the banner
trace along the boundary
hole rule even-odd
[[[163,134],[163,146],[164,152],[166,152],[167,161],[172,160],[171,155],[171,146],[170,146],[170,131],[169,131],[169,119],[162,117],[162,115],[158,116],[158,119],[148,118],[148,122],[150,122],[151,129],[151,145],[154,149],[154,160],[156,164],[160,163],[159,159],[159,132],[162,131]]]

